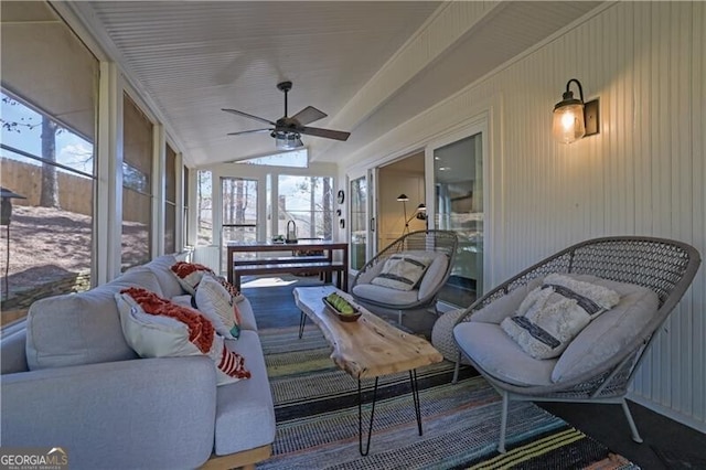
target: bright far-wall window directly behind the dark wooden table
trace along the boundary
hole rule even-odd
[[[278,234],[286,235],[295,221],[299,238],[325,238],[333,234],[333,179],[330,177],[280,175],[277,223]]]

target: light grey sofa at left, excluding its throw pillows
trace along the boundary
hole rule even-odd
[[[252,307],[226,340],[248,380],[216,386],[206,356],[140,359],[126,343],[115,293],[183,296],[174,256],[87,292],[42,299],[0,341],[3,447],[61,447],[72,469],[252,464],[270,455],[275,413]]]

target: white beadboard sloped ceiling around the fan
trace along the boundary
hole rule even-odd
[[[92,1],[72,9],[149,94],[189,164],[265,154],[278,82],[293,82],[289,115],[349,142],[303,136],[312,160],[336,161],[525,51],[599,2]]]

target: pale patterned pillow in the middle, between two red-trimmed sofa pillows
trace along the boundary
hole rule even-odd
[[[228,339],[240,335],[240,312],[235,298],[213,276],[204,276],[196,288],[196,308],[212,319],[216,331]],[[215,318],[215,320],[213,320]]]

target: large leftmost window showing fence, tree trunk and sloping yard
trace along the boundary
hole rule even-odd
[[[46,2],[0,9],[6,323],[34,300],[92,285],[98,61]]]

